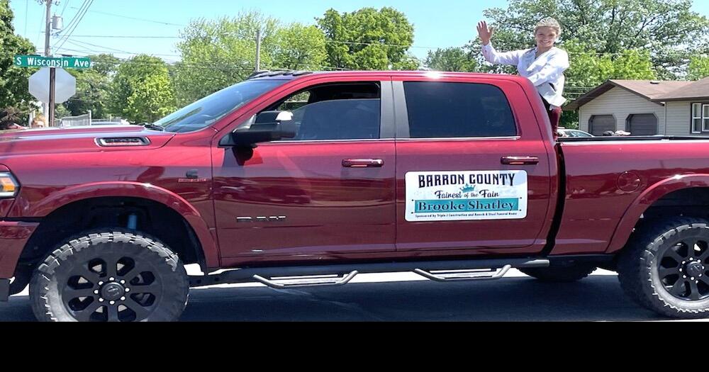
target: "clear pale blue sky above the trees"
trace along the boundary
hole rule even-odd
[[[74,18],[83,0],[61,0],[53,7],[63,13],[65,25]],[[39,50],[44,49],[44,6],[36,0],[11,0],[15,12],[16,33],[29,38]],[[389,1],[294,1],[284,0],[94,0],[86,16],[59,53],[86,55],[91,52],[113,52],[118,57],[147,53],[167,61],[179,60],[174,44],[179,30],[194,18],[234,16],[240,11],[257,10],[286,23],[313,23],[327,9],[354,11],[364,6],[393,6],[403,11],[415,27],[414,55],[423,58],[436,47],[462,46],[475,33],[474,27],[484,9],[506,6],[506,0],[447,0],[435,3],[423,0]],[[439,4],[432,6],[431,4]],[[709,1],[694,1],[693,10],[709,16]],[[126,18],[130,17],[130,18]],[[131,19],[131,18],[140,18]],[[144,21],[145,20],[145,21]],[[168,38],[96,38],[84,35],[150,35]],[[169,38],[172,37],[172,38]],[[55,41],[52,40],[52,44]],[[88,44],[87,44],[88,43]],[[120,51],[120,52],[119,52]]]

